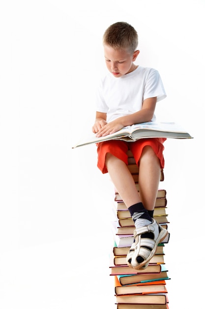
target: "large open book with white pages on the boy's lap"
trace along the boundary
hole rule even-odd
[[[165,137],[176,139],[193,138],[176,122],[149,121],[126,126],[115,133],[102,137],[96,137],[94,133],[91,133],[89,137],[82,139],[81,142],[79,142],[72,148],[93,143],[100,143],[113,139],[119,139],[126,142],[134,142],[138,139],[150,137]]]

